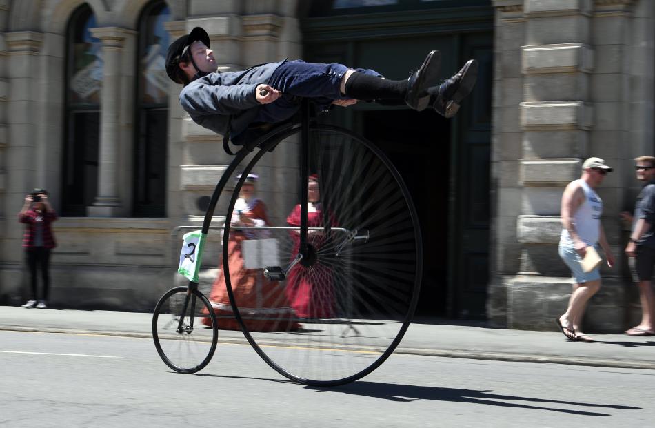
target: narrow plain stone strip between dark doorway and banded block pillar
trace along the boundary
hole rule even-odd
[[[507,325],[507,281],[518,272],[521,244],[516,218],[521,214],[518,159],[521,150],[519,103],[523,94],[521,45],[525,39],[523,0],[494,0],[494,91],[491,171],[495,183],[490,246],[491,281],[487,287],[487,316]]]

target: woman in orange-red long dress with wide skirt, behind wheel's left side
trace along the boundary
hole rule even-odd
[[[237,176],[239,179],[241,176]],[[256,174],[248,174],[241,187],[239,199],[234,205],[230,241],[228,241],[228,263],[230,267],[230,285],[239,314],[251,332],[279,332],[299,329],[294,321],[294,312],[277,281],[269,281],[263,275],[263,269],[245,267],[242,243],[248,239],[267,238],[267,230],[239,230],[238,226],[268,226],[266,205],[261,199],[254,198]],[[239,330],[239,323],[234,318],[228,289],[223,274],[223,257],[219,264],[220,273],[214,281],[210,302],[218,316],[220,329]],[[205,318],[203,323],[209,325]]]

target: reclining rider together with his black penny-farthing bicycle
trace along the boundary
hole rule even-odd
[[[195,123],[222,134],[228,152],[230,140],[241,146],[216,185],[199,239],[208,233],[219,195],[237,167],[243,168],[243,178],[236,183],[225,218],[232,217],[245,177],[254,168],[258,174],[263,169],[275,170],[285,180],[277,183],[272,194],[292,193],[297,195],[295,203],[300,202],[297,223],[265,227],[272,236],[272,246],[266,247],[270,248],[268,255],[274,256],[267,262],[272,264],[262,266],[261,272],[278,281],[279,287],[261,298],[271,302],[286,298],[286,274],[303,269],[303,277],[322,285],[312,291],[310,281],[305,287],[307,293],[329,289],[329,312],[303,311],[294,323],[301,329],[294,331],[250,331],[248,323],[243,323],[247,314],[241,314],[239,300],[232,293],[230,275],[234,273],[229,272],[227,263],[222,272],[234,316],[245,337],[269,365],[288,378],[310,385],[338,385],[378,367],[410,323],[422,271],[416,212],[392,163],[361,136],[319,124],[312,113],[330,110],[332,105],[347,107],[373,101],[407,105],[416,111],[431,108],[450,118],[472,91],[478,64],[474,59],[467,61],[456,74],[439,83],[440,63],[441,54],[433,50],[404,80],[385,79],[374,70],[339,63],[300,60],[216,72],[210,38],[202,28],[194,28],[170,45],[166,71],[170,79],[183,85],[182,108]],[[319,177],[320,201],[308,201],[310,176]],[[323,213],[318,221],[311,212],[316,207]],[[312,215],[314,220],[308,225]],[[244,229],[225,224],[225,260],[230,234],[243,233]],[[321,245],[314,244],[316,236],[320,236]],[[197,259],[199,263],[201,254]],[[321,281],[329,281],[329,288]],[[316,296],[312,298],[316,300]],[[194,372],[211,359],[216,334],[207,339],[211,346],[194,345],[193,351],[187,352],[192,355],[179,359],[174,353],[180,347],[163,344],[165,340],[192,342],[194,329],[201,325],[194,318],[209,317],[205,324],[216,330],[210,307],[197,290],[197,281],[172,289],[160,299],[153,335],[159,354],[173,369]],[[170,316],[174,321],[163,321]],[[270,317],[274,320],[275,314]],[[285,317],[289,324],[288,314]],[[163,332],[164,327],[172,331]]]

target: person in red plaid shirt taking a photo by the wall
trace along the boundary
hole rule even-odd
[[[46,309],[50,289],[50,250],[57,245],[54,243],[54,235],[50,227],[50,223],[57,220],[57,213],[48,202],[48,192],[43,189],[34,189],[31,194],[25,196],[25,204],[18,214],[18,218],[21,223],[26,224],[23,248],[26,251],[32,285],[32,296],[23,307]],[[41,294],[38,293],[37,287],[37,270],[39,269],[41,278],[43,278]]]

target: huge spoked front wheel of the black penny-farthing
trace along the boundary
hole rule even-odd
[[[237,198],[252,172],[270,224],[228,222],[225,282],[266,363],[300,383],[339,385],[381,365],[405,334],[419,296],[421,233],[407,187],[379,148],[343,128],[312,126],[305,181],[299,136],[260,145],[236,183],[227,218],[243,210]],[[302,252],[299,186],[309,194],[308,249],[292,265]]]

